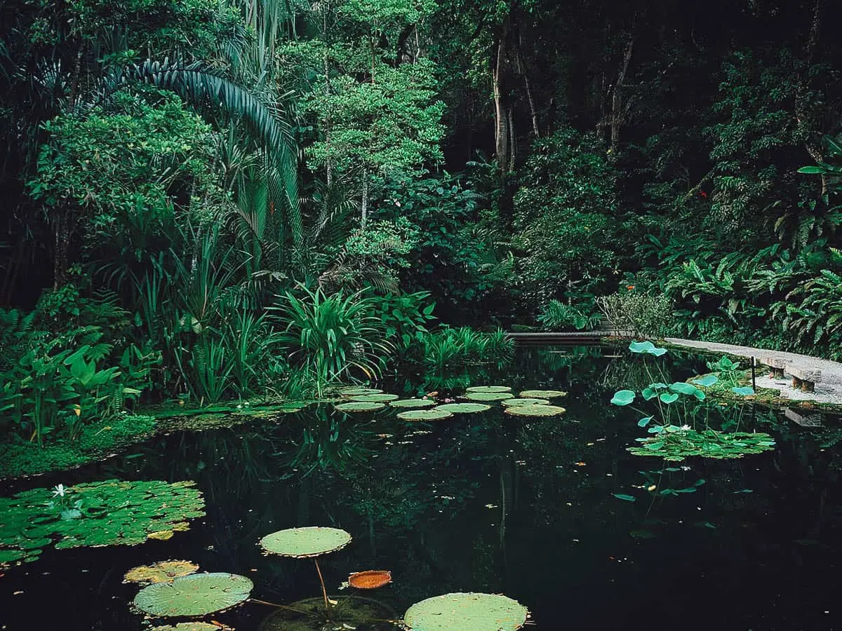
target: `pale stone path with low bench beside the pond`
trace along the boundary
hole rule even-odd
[[[789,360],[795,365],[810,370],[821,370],[822,379],[816,383],[815,392],[802,392],[792,388],[789,379],[772,379],[768,376],[757,379],[758,388],[774,388],[781,390],[781,396],[791,400],[814,400],[818,403],[834,403],[842,405],[842,363],[831,362],[829,359],[799,355],[798,353],[785,353],[783,351],[766,351],[761,348],[748,346],[736,346],[734,344],[720,344],[718,342],[698,342],[696,340],[682,340],[677,337],[667,337],[666,341],[674,346],[695,348],[710,351],[711,353],[723,353],[737,355],[751,361],[751,358],[781,358]]]

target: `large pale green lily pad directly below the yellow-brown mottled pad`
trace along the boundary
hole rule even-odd
[[[205,616],[247,600],[253,587],[252,581],[237,574],[191,574],[144,587],[134,603],[152,616]]]

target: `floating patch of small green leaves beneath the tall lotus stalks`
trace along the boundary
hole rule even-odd
[[[674,426],[663,427],[657,436],[637,438],[639,446],[628,451],[637,456],[657,456],[679,461],[688,456],[703,458],[741,458],[747,453],[762,453],[775,448],[775,440],[762,432],[714,432],[682,430]]]

